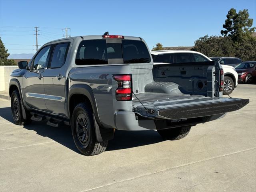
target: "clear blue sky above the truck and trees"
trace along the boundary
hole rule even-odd
[[[193,46],[201,36],[220,35],[230,8],[248,9],[256,26],[256,0],[0,0],[0,36],[10,54],[35,53],[33,26],[40,26],[41,45],[61,38],[61,28],[68,27],[71,36],[139,36],[150,49],[158,42]]]

